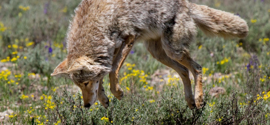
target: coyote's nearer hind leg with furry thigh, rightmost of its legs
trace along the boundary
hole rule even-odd
[[[184,65],[192,73],[195,81],[194,98],[197,109],[204,103],[202,92],[202,67],[189,56],[189,43],[195,39],[196,25],[188,12],[176,14],[173,28],[165,30],[164,38],[161,38],[162,48],[167,56]]]

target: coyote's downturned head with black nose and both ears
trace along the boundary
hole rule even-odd
[[[90,107],[97,100],[98,86],[101,78],[110,72],[110,67],[101,65],[88,57],[76,60],[65,59],[55,69],[51,76],[64,75],[82,90],[84,107]]]

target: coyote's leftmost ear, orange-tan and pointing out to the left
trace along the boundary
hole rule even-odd
[[[53,71],[53,73],[51,74],[51,76],[56,76],[56,75],[64,75],[64,76],[68,76],[68,72],[67,72],[67,58],[61,62]]]

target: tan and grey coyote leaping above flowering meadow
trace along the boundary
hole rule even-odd
[[[202,68],[189,54],[197,27],[225,38],[248,33],[239,16],[187,0],[82,0],[74,12],[67,31],[67,57],[51,76],[67,76],[79,86],[86,108],[97,99],[109,106],[102,86],[106,74],[111,92],[123,98],[119,70],[134,43],[144,41],[155,59],[180,75],[188,107],[200,109]],[[194,95],[188,71],[194,77]]]

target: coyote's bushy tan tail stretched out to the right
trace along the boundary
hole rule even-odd
[[[207,35],[224,38],[247,36],[247,22],[232,13],[193,3],[190,3],[190,13],[196,25]]]

